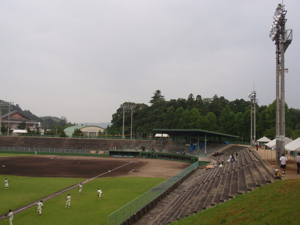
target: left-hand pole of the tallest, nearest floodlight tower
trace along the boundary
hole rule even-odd
[[[279,42],[276,40],[276,166],[279,166],[280,159],[279,65]]]

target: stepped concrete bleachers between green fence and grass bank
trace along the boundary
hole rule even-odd
[[[238,194],[255,190],[280,179],[274,169],[256,152],[243,146],[228,146],[225,160],[238,152],[237,161],[223,167],[197,170],[196,176],[147,224],[168,224],[203,209],[226,202]]]

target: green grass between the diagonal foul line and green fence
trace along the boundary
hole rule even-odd
[[[149,177],[97,178],[83,184],[81,195],[77,188],[73,188],[43,202],[41,217],[38,217],[37,206],[15,214],[13,224],[106,225],[109,214],[164,180]],[[103,192],[102,199],[98,199],[98,188]],[[65,208],[67,193],[71,196],[70,208]],[[7,219],[0,221],[0,225],[7,223]]]

